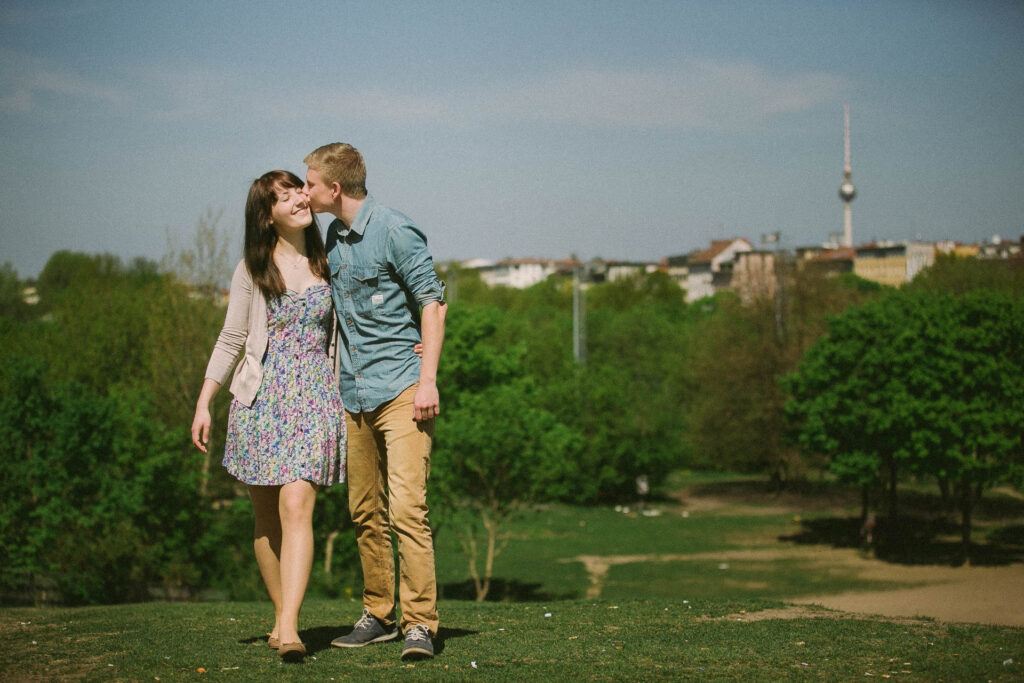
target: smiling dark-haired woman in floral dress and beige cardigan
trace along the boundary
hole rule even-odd
[[[246,202],[245,258],[231,278],[191,434],[206,453],[210,401],[241,354],[223,465],[248,485],[256,563],[273,603],[267,644],[289,660],[306,653],[298,623],[312,568],[316,492],[345,478],[345,419],[328,359],[329,278],[302,180],[287,171],[256,179]]]

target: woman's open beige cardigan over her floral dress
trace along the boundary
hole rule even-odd
[[[328,354],[337,377],[337,321],[331,315],[331,334],[328,335]],[[206,377],[221,386],[227,380],[239,353],[245,347],[242,361],[234,369],[228,391],[239,402],[251,407],[256,392],[263,383],[263,355],[266,353],[266,299],[253,284],[245,260],[239,262],[231,275],[231,289],[227,295],[227,314],[217,343],[213,345]]]

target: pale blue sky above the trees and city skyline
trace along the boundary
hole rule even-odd
[[[438,261],[656,260],[713,238],[1024,234],[1024,3],[5,0],[0,262],[241,254],[266,170],[319,144]],[[325,221],[326,223],[326,221]]]

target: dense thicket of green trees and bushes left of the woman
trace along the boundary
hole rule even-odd
[[[86,602],[232,586],[251,556],[236,486],[187,437],[220,297],[152,261],[72,252],[49,259],[39,292],[35,315],[0,316],[5,585]],[[226,401],[218,413],[223,425]]]

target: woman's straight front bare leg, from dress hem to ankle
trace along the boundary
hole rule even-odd
[[[316,484],[292,481],[281,487],[281,627],[282,643],[297,643],[299,610],[313,566],[313,506]]]

